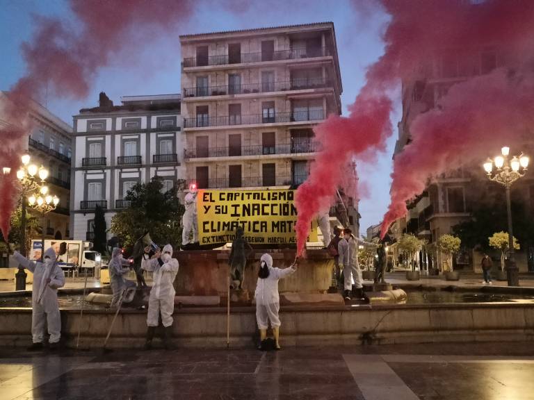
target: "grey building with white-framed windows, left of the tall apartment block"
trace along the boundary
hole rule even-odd
[[[74,116],[71,215],[74,239],[92,240],[95,208],[106,225],[128,206],[124,196],[154,176],[169,190],[185,179],[181,166],[181,96],[122,97],[121,106],[100,94],[99,106]]]

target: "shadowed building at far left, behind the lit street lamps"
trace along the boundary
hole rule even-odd
[[[0,103],[10,101],[8,92],[0,92]],[[59,198],[58,207],[44,218],[44,238],[70,238],[70,158],[72,127],[36,101],[29,108],[32,131],[28,140],[31,163],[49,170],[49,192]],[[0,121],[2,124],[13,122]],[[31,208],[29,213],[34,213]]]

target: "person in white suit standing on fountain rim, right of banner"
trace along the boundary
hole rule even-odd
[[[343,265],[343,296],[351,299],[353,291],[359,299],[364,298],[362,270],[358,263],[358,240],[349,228],[343,229],[343,239],[337,245],[339,265]],[[354,289],[353,289],[354,286]]]

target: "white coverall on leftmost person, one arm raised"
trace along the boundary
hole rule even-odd
[[[59,342],[61,336],[61,317],[58,305],[58,288],[65,285],[65,274],[56,263],[56,252],[51,247],[44,251],[44,257],[50,263],[34,262],[15,251],[13,254],[17,262],[33,272],[33,290],[31,292],[31,335],[33,343],[42,343],[44,320],[48,325],[49,343]],[[44,258],[44,260],[46,260]],[[50,282],[47,284],[47,278]],[[39,297],[41,301],[38,303]]]

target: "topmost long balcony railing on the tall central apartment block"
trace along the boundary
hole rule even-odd
[[[213,65],[265,63],[269,61],[300,60],[331,56],[327,47],[312,47],[291,50],[258,51],[254,53],[220,54],[218,56],[198,56],[184,58],[184,68],[207,67]]]

